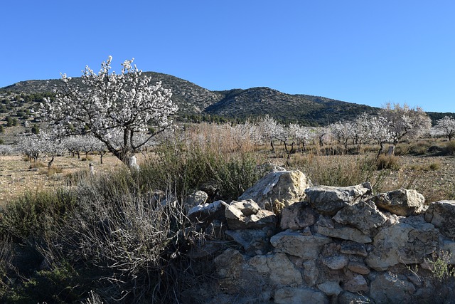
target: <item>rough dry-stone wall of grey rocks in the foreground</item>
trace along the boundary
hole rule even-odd
[[[215,272],[205,290],[188,289],[188,303],[449,303],[454,296],[452,278],[435,276],[455,263],[455,201],[426,204],[410,189],[374,194],[369,183],[312,187],[302,172],[279,171],[238,201],[194,206],[188,218],[208,235],[190,254]]]

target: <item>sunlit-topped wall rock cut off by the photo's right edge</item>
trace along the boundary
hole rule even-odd
[[[455,201],[436,201],[425,212],[425,221],[432,223],[441,234],[455,239]]]

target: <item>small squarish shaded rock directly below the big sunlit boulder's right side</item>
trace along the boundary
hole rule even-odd
[[[313,225],[316,219],[317,214],[311,209],[309,203],[299,201],[283,209],[279,227],[283,230],[300,230]]]

